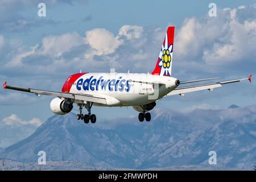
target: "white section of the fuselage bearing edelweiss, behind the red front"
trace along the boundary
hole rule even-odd
[[[94,104],[97,106],[144,105],[174,90],[176,80],[146,73],[85,73],[69,83],[72,84],[69,92],[106,98],[106,105]]]

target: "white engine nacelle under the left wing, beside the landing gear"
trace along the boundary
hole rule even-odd
[[[51,101],[50,107],[53,113],[63,115],[69,113],[73,109],[73,103],[56,97]]]

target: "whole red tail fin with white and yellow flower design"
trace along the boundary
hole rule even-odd
[[[174,29],[175,27],[168,27],[166,38],[162,45],[158,61],[152,75],[171,76],[172,73],[172,52],[174,49]]]

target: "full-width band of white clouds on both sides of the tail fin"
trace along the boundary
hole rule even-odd
[[[251,61],[256,56],[256,18],[242,14],[249,7],[237,8],[236,18],[230,18],[231,9],[218,11],[210,18],[188,18],[175,30],[175,75],[185,73],[220,73],[226,67]],[[255,10],[255,7],[250,7]],[[253,13],[252,10],[249,14]],[[241,21],[241,16],[243,17]],[[250,17],[250,18],[248,18]],[[164,39],[165,28],[146,28],[124,25],[118,34],[105,28],[95,28],[80,36],[77,32],[46,36],[42,43],[24,48],[23,44],[2,47],[0,56],[6,65],[1,73],[36,73],[52,75],[82,71],[118,72],[152,71]],[[10,42],[4,39],[4,44]],[[1,41],[0,41],[1,43]],[[8,43],[10,44],[10,43]],[[6,52],[8,54],[6,55]],[[102,67],[104,65],[104,67]],[[18,68],[18,69],[17,69]]]

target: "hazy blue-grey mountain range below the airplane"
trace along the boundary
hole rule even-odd
[[[0,158],[130,169],[246,169],[256,159],[256,105],[186,113],[156,108],[150,122],[118,118],[85,125],[76,115],[53,115]],[[217,164],[209,165],[209,151]],[[85,167],[86,168],[86,167]],[[74,167],[76,169],[76,167]]]

